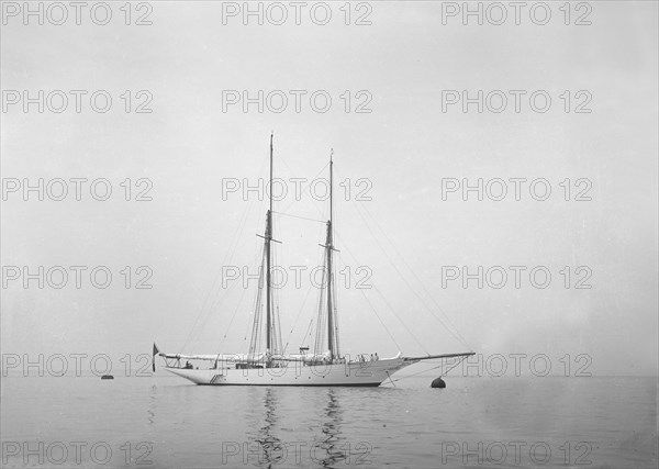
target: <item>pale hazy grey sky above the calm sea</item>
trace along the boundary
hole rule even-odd
[[[43,290],[36,281],[27,289],[21,280],[9,281],[2,289],[3,354],[121,357],[148,353],[154,339],[167,351],[180,351],[191,331],[185,351],[246,351],[255,282],[246,292],[239,282],[224,291],[214,280],[223,263],[254,272],[263,244],[255,234],[263,232],[267,206],[254,193],[247,201],[239,192],[223,200],[223,179],[256,185],[266,177],[275,131],[275,171],[287,180],[316,176],[334,148],[337,186],[344,183],[336,200],[339,265],[354,275],[359,266],[372,271],[369,283],[386,301],[373,289],[362,292],[404,354],[424,353],[413,335],[433,353],[465,349],[424,308],[420,298],[436,306],[416,276],[477,353],[547,354],[552,360],[588,354],[590,370],[599,375],[657,372],[656,2],[591,2],[592,25],[581,26],[563,24],[562,2],[550,2],[546,25],[523,12],[521,25],[509,19],[501,26],[474,20],[462,25],[461,16],[443,24],[440,2],[371,2],[371,25],[345,25],[340,3],[332,3],[333,18],[324,26],[305,12],[301,25],[291,18],[284,25],[261,26],[254,19],[243,25],[241,16],[223,24],[220,2],[150,4],[152,25],[125,25],[120,3],[104,26],[86,12],[81,25],[71,16],[59,26],[34,19],[25,26],[21,15],[2,25],[3,91],[29,90],[33,97],[38,90],[88,91],[80,113],[72,101],[62,113],[47,108],[38,113],[36,105],[25,113],[21,103],[3,110],[5,183],[105,178],[113,188],[104,202],[90,197],[89,186],[82,201],[72,194],[59,202],[7,194],[2,266],[33,271],[108,266],[113,280],[97,289],[83,273],[80,289],[69,279],[63,289]],[[365,12],[353,11],[350,22]],[[131,21],[142,13],[133,11]],[[571,13],[573,22],[583,12]],[[89,105],[97,90],[113,99],[107,113]],[[147,90],[153,112],[124,112],[125,90],[132,110],[144,101],[137,91]],[[256,105],[245,113],[241,104],[223,112],[223,90],[248,90],[252,97],[281,90],[291,101],[281,113],[267,108],[259,113]],[[299,113],[290,90],[308,92]],[[309,104],[316,90],[332,97],[326,113]],[[370,96],[372,112],[346,113],[340,98],[346,90],[351,111]],[[469,90],[472,97],[502,90],[511,101],[501,113],[478,113],[476,104],[467,113],[460,104],[443,112],[443,90]],[[520,113],[509,90],[526,92]],[[536,90],[552,99],[546,113],[529,108]],[[566,90],[569,113],[560,98]],[[585,93],[577,96],[580,90]],[[587,96],[592,112],[573,112]],[[142,189],[137,179],[153,181],[153,201],[125,201],[120,183],[126,178],[132,198]],[[360,178],[369,182],[357,186]],[[536,201],[527,182],[521,201],[512,193],[502,201],[478,201],[471,193],[463,201],[460,192],[443,200],[447,178],[471,183],[544,178],[552,192]],[[559,186],[566,178],[570,201]],[[585,187],[574,186],[580,178],[592,182],[591,201],[573,200]],[[356,201],[366,187],[372,200]],[[326,202],[309,194],[291,202],[289,196],[275,210],[326,219]],[[289,271],[317,266],[323,230],[321,223],[277,216],[280,264]],[[148,266],[153,289],[125,289],[120,273],[125,266],[133,286],[135,269]],[[443,266],[445,273],[446,266],[470,272],[502,266],[510,276],[501,289],[478,289],[476,281],[462,288],[460,280],[443,288]],[[518,289],[510,266],[527,268]],[[528,281],[536,266],[552,275],[546,289]],[[569,289],[560,273],[566,266]],[[580,266],[592,271],[591,289],[574,289],[583,277],[576,272]],[[308,280],[279,294],[289,351],[301,345],[316,314],[316,291],[302,308]],[[343,350],[394,355],[399,347],[353,280],[339,291]],[[216,292],[222,302],[213,301]]]

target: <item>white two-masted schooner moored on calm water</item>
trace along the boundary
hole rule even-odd
[[[186,378],[196,384],[212,386],[348,386],[377,387],[394,372],[422,360],[467,357],[472,351],[457,354],[438,354],[417,357],[403,356],[398,353],[392,358],[376,358],[343,355],[339,349],[339,328],[335,302],[335,284],[333,281],[333,186],[334,161],[330,157],[330,220],[326,222],[324,252],[324,281],[321,290],[321,305],[316,322],[314,350],[301,347],[300,354],[283,355],[279,321],[276,317],[272,298],[272,252],[271,243],[277,242],[272,233],[272,138],[270,135],[269,168],[269,209],[266,212],[264,235],[264,259],[261,261],[261,279],[257,292],[252,339],[247,354],[181,355],[160,351],[154,344],[153,356],[163,357],[166,370]],[[265,276],[265,279],[263,278]],[[263,281],[261,281],[263,280]],[[265,293],[265,299],[264,299]],[[263,324],[263,301],[265,300],[265,330]],[[265,332],[266,348],[258,350]],[[186,360],[186,365],[182,365]],[[188,360],[209,362],[208,368],[192,367]],[[155,361],[154,361],[155,371]],[[393,382],[393,381],[392,381]]]

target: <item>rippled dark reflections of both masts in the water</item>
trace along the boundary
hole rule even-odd
[[[350,462],[350,447],[342,436],[343,410],[339,395],[334,389],[327,389],[317,397],[324,404],[316,422],[310,425],[308,437],[303,440],[282,442],[276,436],[280,420],[278,413],[279,392],[267,388],[263,403],[263,418],[253,421],[253,445],[248,461],[259,468],[281,467],[346,467]],[[320,432],[317,434],[316,432]],[[315,433],[315,435],[314,435]],[[258,445],[258,448],[257,448]]]

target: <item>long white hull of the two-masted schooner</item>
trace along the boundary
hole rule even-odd
[[[291,361],[284,368],[165,368],[196,384],[210,386],[380,386],[395,371],[415,360],[390,358],[333,365],[303,365]]]

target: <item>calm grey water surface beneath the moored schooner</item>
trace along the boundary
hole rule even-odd
[[[656,468],[657,378],[3,378],[3,467]]]

